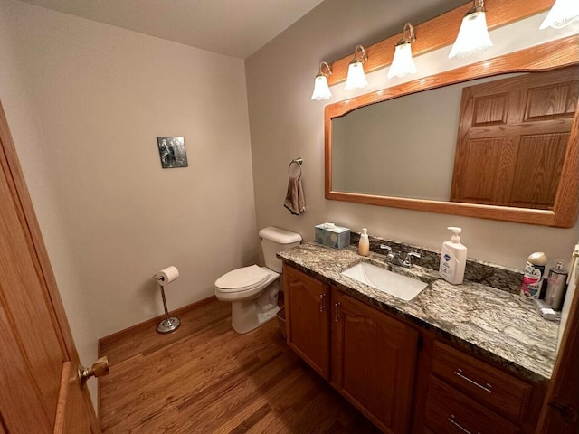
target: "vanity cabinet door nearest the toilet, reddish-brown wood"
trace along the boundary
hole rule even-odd
[[[329,286],[284,266],[288,345],[329,380]]]

